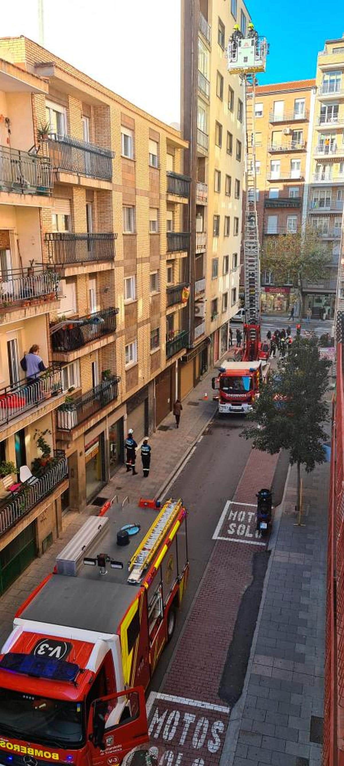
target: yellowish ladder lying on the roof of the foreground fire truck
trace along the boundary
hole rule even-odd
[[[157,552],[157,548],[159,548],[166,535],[168,527],[174,521],[181,508],[181,500],[170,499],[164,503],[161,512],[151,525],[147,535],[136,549],[134,555],[131,556],[128,564],[130,572],[128,577],[129,584],[137,585],[141,582],[144,572],[147,570],[154,554]]]

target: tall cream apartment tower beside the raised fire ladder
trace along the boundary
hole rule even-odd
[[[190,142],[190,350],[187,393],[228,349],[229,319],[239,308],[244,90],[227,71],[235,23],[250,21],[239,0],[183,0],[181,128]],[[210,350],[208,348],[210,346]]]

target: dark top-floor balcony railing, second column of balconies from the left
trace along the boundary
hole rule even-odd
[[[112,158],[115,153],[111,149],[58,133],[50,133],[48,146],[55,170],[112,181]]]

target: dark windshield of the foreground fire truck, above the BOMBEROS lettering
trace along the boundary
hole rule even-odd
[[[83,705],[0,689],[0,735],[61,748],[80,747]]]

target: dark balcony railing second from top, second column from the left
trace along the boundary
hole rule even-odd
[[[52,264],[85,264],[90,261],[113,260],[117,234],[73,234],[56,231],[45,234],[49,260]]]

